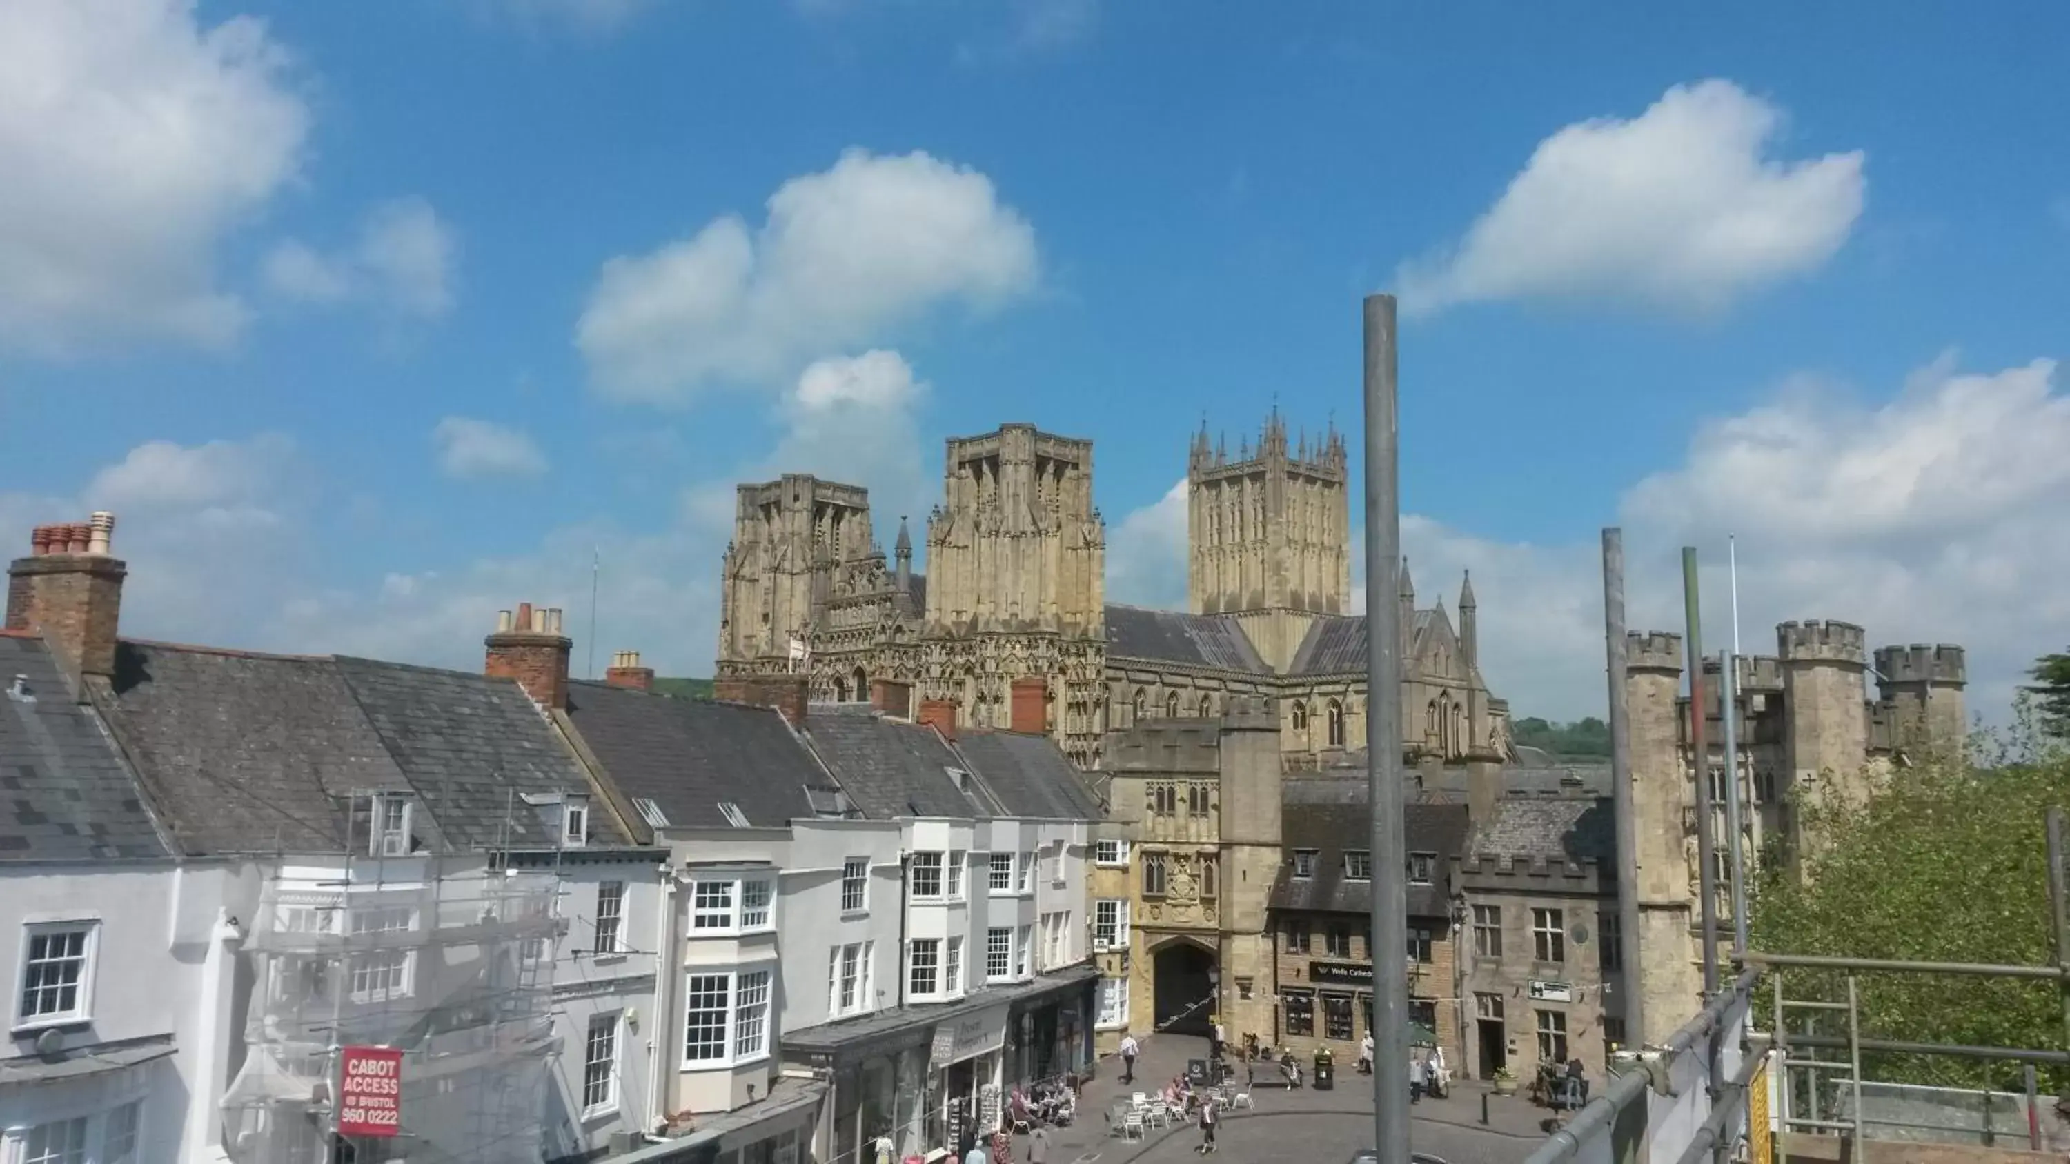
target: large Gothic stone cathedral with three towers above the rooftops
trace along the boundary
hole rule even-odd
[[[1186,461],[1188,610],[1105,602],[1093,442],[1006,424],[946,445],[925,575],[898,519],[886,558],[859,486],[739,486],[720,589],[720,678],[809,674],[814,699],[911,684],[944,726],[1052,734],[1101,765],[1110,730],[1219,717],[1263,697],[1288,769],[1331,767],[1366,734],[1366,620],[1352,614],[1343,436],[1288,440],[1277,409],[1232,457],[1203,430]],[[1416,606],[1401,573],[1401,711],[1412,757],[1509,757],[1509,705],[1480,676],[1476,604]]]

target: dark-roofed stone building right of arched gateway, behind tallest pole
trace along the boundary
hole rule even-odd
[[[1285,860],[1273,885],[1277,945],[1273,1028],[1232,1032],[1292,1048],[1304,1061],[1329,1048],[1358,1059],[1372,1030],[1372,800],[1366,779],[1304,777],[1285,784]],[[1435,1040],[1461,1063],[1455,879],[1466,844],[1463,804],[1408,804],[1408,982],[1412,1042]]]

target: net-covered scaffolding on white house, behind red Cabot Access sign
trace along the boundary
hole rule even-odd
[[[557,870],[509,870],[482,854],[269,866],[240,955],[246,1056],[221,1104],[230,1158],[538,1160],[559,1052],[559,889]],[[397,1137],[335,1135],[348,1046],[402,1052]]]

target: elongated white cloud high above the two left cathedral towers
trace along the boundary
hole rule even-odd
[[[785,182],[758,229],[727,215],[604,263],[575,343],[602,393],[671,403],[714,380],[785,382],[820,354],[1035,279],[1035,232],[989,178],[851,149]]]

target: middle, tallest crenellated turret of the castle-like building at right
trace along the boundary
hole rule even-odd
[[[1867,688],[1863,631],[1853,622],[1784,622],[1776,626],[1782,701],[1788,707],[1786,755],[1791,798],[1828,794],[1863,802],[1869,794]],[[1801,839],[1795,823],[1791,839]]]

